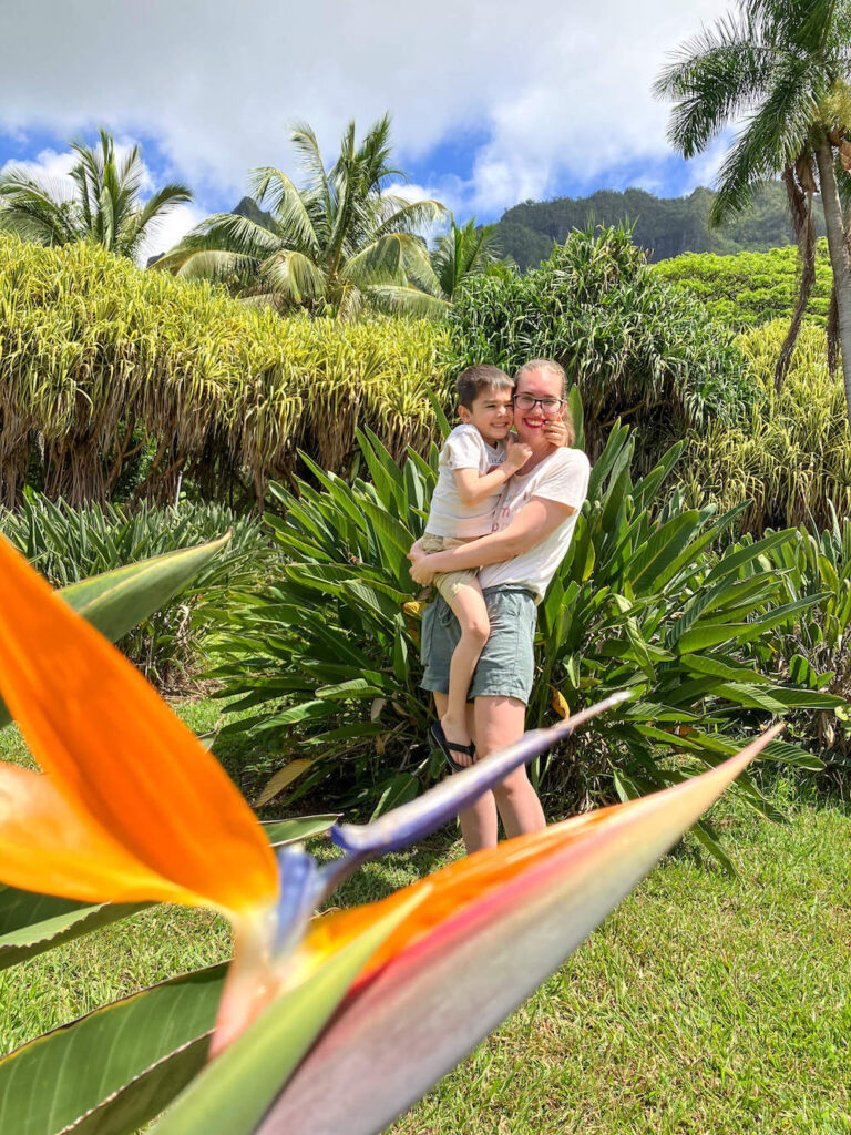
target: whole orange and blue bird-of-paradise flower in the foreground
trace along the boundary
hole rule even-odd
[[[234,930],[214,1025],[196,1011],[179,1043],[172,1028],[175,1012],[192,1016],[193,990],[218,992],[218,972],[202,972],[149,991],[185,994],[177,1008],[166,999],[159,1054],[127,1027],[129,999],[92,1015],[87,1068],[91,1044],[103,1050],[93,1077],[68,1076],[86,1018],[0,1061],[0,1108],[22,1117],[16,1130],[118,1135],[171,1100],[159,1135],[380,1130],[563,961],[772,735],[664,792],[314,918],[366,859],[420,840],[623,695],[528,733],[373,823],[335,824],[342,855],[320,866],[298,844],[272,850],[214,757],[3,541],[0,589],[0,691],[42,770],[0,765],[0,878],[84,902],[207,907]],[[110,1031],[110,1012],[124,1026]],[[209,1057],[200,1071],[186,1059],[199,1046]],[[45,1083],[64,1094],[39,1126]]]

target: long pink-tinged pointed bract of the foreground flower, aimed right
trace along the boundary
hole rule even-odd
[[[530,850],[540,842],[524,871],[406,943],[403,925],[384,962],[349,991],[259,1135],[382,1130],[576,949],[780,728],[701,776],[511,841],[526,841]],[[431,876],[436,894],[441,874]]]

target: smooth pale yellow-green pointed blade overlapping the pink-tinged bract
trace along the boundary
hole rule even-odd
[[[193,1081],[155,1125],[155,1135],[255,1130],[365,962],[420,901],[416,894],[377,917],[306,982],[275,1001]],[[332,1094],[336,1085],[327,1084],[326,1091]],[[290,1135],[301,1130],[297,1123],[289,1128]]]

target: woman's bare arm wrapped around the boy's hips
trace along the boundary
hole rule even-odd
[[[507,528],[500,532],[489,532],[478,540],[470,540],[457,548],[426,555],[416,545],[411,548],[411,575],[418,583],[430,583],[437,572],[460,571],[466,568],[486,568],[488,564],[512,560],[540,544],[576,510],[558,501],[532,497],[523,505]]]

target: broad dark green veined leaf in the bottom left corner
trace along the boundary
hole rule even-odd
[[[154,985],[0,1060],[0,1132],[130,1135],[203,1066],[225,972]]]

